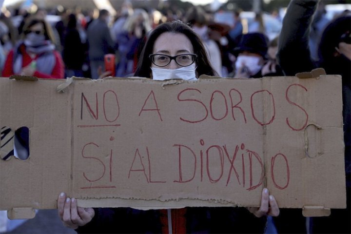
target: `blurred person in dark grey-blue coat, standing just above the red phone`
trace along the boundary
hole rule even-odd
[[[110,13],[106,9],[102,9],[99,11],[98,19],[91,22],[87,30],[92,79],[99,77],[99,69],[105,70],[104,56],[114,54],[117,47],[111,37],[109,21]]]

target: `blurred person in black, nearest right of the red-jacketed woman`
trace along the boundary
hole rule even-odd
[[[85,59],[85,50],[77,29],[75,14],[68,16],[63,42],[62,58],[66,67],[65,77],[83,77],[82,66]]]

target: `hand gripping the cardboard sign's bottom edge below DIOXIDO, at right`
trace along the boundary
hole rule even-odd
[[[248,207],[247,208],[256,217],[262,217],[264,215],[278,216],[279,207],[274,199],[273,195],[269,195],[268,189],[264,188],[261,195],[261,206],[260,207]]]

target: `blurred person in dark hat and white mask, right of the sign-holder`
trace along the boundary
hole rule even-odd
[[[234,78],[260,78],[261,69],[266,62],[268,38],[262,33],[248,33],[240,36],[234,48]]]

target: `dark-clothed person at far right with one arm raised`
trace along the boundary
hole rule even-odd
[[[345,141],[346,209],[331,209],[327,217],[312,217],[310,230],[289,230],[301,233],[351,233],[351,14],[332,20],[324,29],[318,45],[317,61],[311,59],[308,46],[310,25],[319,0],[292,0],[283,20],[278,43],[278,61],[286,76],[309,72],[322,67],[327,74],[342,76],[343,120]],[[301,213],[300,213],[301,214]],[[283,218],[282,209],[281,218]],[[296,216],[285,219],[284,227],[304,225]],[[277,229],[279,229],[278,225]],[[284,231],[277,230],[278,233]]]

